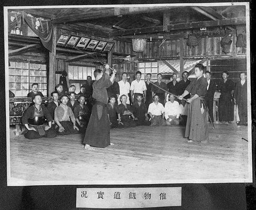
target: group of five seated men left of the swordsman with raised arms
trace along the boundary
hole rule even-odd
[[[85,104],[85,96],[79,95],[75,101],[75,93],[61,95],[57,91],[51,93],[52,101],[45,107],[41,94],[32,97],[33,104],[29,106],[22,117],[26,127],[25,137],[29,139],[55,137],[85,132],[90,110]],[[45,120],[48,122],[44,125]]]

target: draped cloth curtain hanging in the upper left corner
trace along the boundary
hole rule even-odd
[[[9,31],[15,29],[16,26],[21,28],[21,25],[26,23],[32,31],[38,35],[43,46],[52,52],[53,44],[53,23],[51,20],[44,20],[40,17],[33,17],[25,12],[10,13],[9,16]]]

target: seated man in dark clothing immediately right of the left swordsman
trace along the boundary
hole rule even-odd
[[[115,96],[110,96],[109,103],[107,104],[108,117],[111,128],[120,128],[121,124],[118,124],[118,105],[115,101]]]

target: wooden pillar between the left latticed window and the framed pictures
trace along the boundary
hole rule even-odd
[[[52,52],[49,53],[49,77],[47,95],[54,91],[56,85],[56,26],[53,25],[53,45]]]

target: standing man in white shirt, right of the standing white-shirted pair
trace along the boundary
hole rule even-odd
[[[146,102],[147,87],[145,82],[141,80],[140,71],[136,72],[136,80],[132,81],[131,83],[130,94],[132,103],[137,100],[137,95],[141,95],[143,97],[144,103]]]

